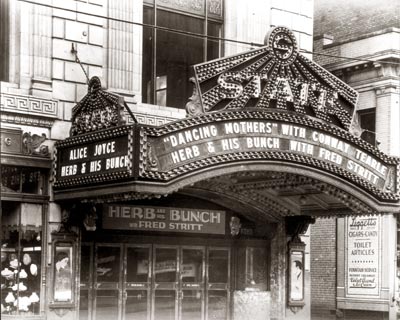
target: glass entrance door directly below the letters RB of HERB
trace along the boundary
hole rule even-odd
[[[125,320],[150,320],[151,246],[125,248]]]

